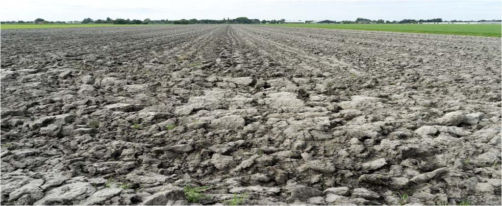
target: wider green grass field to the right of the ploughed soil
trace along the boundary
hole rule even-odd
[[[267,24],[266,26],[500,37],[500,24]]]

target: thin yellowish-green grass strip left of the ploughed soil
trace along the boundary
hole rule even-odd
[[[50,29],[50,28],[75,28],[75,27],[138,27],[153,26],[146,24],[1,24],[4,29]]]

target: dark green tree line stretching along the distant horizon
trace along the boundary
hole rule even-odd
[[[418,24],[418,23],[426,23],[426,22],[432,22],[432,23],[441,23],[441,22],[500,22],[501,20],[478,20],[478,21],[460,21],[460,20],[451,20],[451,21],[443,21],[441,18],[436,18],[436,19],[428,19],[428,20],[414,20],[414,19],[404,19],[401,21],[386,21],[383,19],[379,20],[370,20],[370,19],[364,19],[364,18],[357,18],[355,21],[331,21],[334,24]],[[305,23],[310,23],[313,21],[305,21]],[[259,19],[248,19],[246,17],[238,17],[235,19],[230,19],[230,18],[223,18],[223,20],[209,20],[209,19],[203,19],[203,20],[197,20],[197,19],[181,19],[181,20],[150,20],[150,19],[145,19],[145,20],[137,20],[137,19],[120,19],[117,18],[115,20],[112,20],[111,18],[106,18],[105,20],[93,20],[91,18],[85,18],[81,22],[74,21],[74,22],[62,22],[62,21],[45,21],[44,19],[38,18],[35,21],[6,21],[6,22],[0,22],[2,24],[25,24],[25,23],[36,23],[36,24],[65,24],[65,23],[81,23],[81,24],[284,24],[286,23],[285,19],[281,20],[259,20]]]

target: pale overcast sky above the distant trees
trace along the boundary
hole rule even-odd
[[[329,0],[44,0],[3,1],[2,21],[81,21],[84,18],[152,20],[492,20],[502,19],[502,1],[329,1]]]

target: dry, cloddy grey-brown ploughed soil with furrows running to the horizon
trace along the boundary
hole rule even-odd
[[[500,38],[252,25],[1,37],[3,205],[501,204]]]

